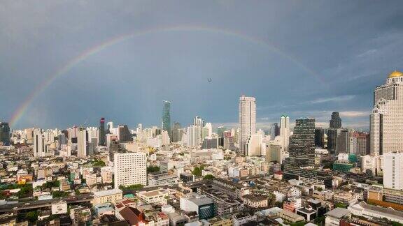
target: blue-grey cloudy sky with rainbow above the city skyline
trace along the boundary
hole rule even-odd
[[[0,121],[11,128],[257,127],[281,114],[368,130],[375,86],[403,70],[403,1],[0,1]]]

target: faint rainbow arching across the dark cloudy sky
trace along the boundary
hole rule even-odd
[[[138,31],[134,33],[128,33],[120,36],[116,36],[115,38],[111,38],[109,40],[106,40],[104,43],[100,43],[98,45],[94,45],[93,47],[90,47],[89,49],[85,50],[84,52],[78,54],[76,57],[71,59],[66,65],[62,66],[62,68],[59,68],[59,70],[56,71],[55,74],[50,75],[43,83],[39,84],[38,86],[35,87],[34,91],[32,91],[29,96],[27,97],[22,104],[17,107],[13,115],[11,116],[10,120],[10,125],[13,126],[15,123],[17,123],[22,116],[27,112],[27,109],[29,105],[35,100],[35,98],[40,95],[45,89],[48,88],[55,80],[57,80],[58,77],[66,74],[73,68],[74,66],[78,65],[80,62],[85,61],[88,57],[91,57],[94,54],[97,54],[98,52],[101,52],[102,50],[106,49],[107,47],[111,47],[112,45],[118,44],[125,42],[126,40],[136,38],[139,36],[146,36],[148,34],[153,34],[153,33],[162,33],[162,32],[174,32],[174,31],[187,31],[187,32],[195,32],[195,31],[201,31],[201,32],[208,32],[208,33],[218,33],[222,34],[224,36],[234,36],[236,38],[241,38],[242,40],[245,40],[249,43],[255,43],[257,45],[262,45],[263,47],[267,47],[269,50],[276,52],[276,54],[281,55],[282,57],[285,57],[286,59],[289,59],[293,63],[295,63],[297,66],[300,68],[304,69],[307,73],[310,75],[313,75],[316,77],[318,80],[320,80],[320,76],[310,68],[306,67],[303,63],[298,61],[295,57],[292,57],[290,54],[286,54],[285,52],[281,51],[278,47],[275,45],[272,45],[271,43],[268,43],[267,41],[261,40],[259,38],[255,38],[253,36],[248,36],[243,33],[239,33],[236,31],[229,31],[226,29],[218,29],[214,27],[199,27],[199,26],[176,26],[176,27],[162,27],[162,28],[155,28],[155,29],[148,29],[146,31]],[[321,81],[321,80],[320,80]]]

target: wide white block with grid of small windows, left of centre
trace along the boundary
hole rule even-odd
[[[147,185],[146,153],[115,153],[113,158],[115,188],[133,184]]]

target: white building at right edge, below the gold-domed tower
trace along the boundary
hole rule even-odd
[[[403,190],[403,153],[388,152],[383,154],[383,186]]]

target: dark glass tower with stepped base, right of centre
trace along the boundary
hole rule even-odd
[[[294,134],[290,139],[290,157],[285,159],[284,179],[298,179],[302,167],[315,165],[315,119],[295,121]]]

